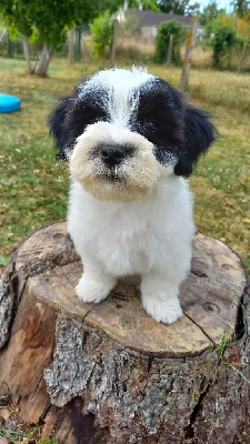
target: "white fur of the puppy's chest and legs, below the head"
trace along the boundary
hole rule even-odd
[[[179,284],[190,269],[194,232],[186,180],[167,175],[150,196],[129,203],[99,201],[73,181],[68,228],[84,266],[80,299],[100,302],[118,276],[141,274],[146,311],[167,324],[182,315]]]

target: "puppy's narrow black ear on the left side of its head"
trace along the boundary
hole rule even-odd
[[[70,144],[70,134],[66,128],[67,114],[73,107],[73,98],[71,95],[62,98],[59,105],[49,115],[50,133],[54,139],[54,148],[57,150],[57,159],[67,159],[67,148]]]

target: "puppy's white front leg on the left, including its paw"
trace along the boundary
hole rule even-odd
[[[83,273],[76,286],[77,295],[83,302],[103,301],[117,282],[117,278],[104,271],[103,266],[89,256],[82,258]]]

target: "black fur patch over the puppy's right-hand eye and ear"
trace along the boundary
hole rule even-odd
[[[217,138],[211,115],[186,103],[183,95],[161,79],[154,88],[140,94],[137,121],[132,128],[156,147],[160,163],[168,162],[169,153],[179,161],[177,175],[188,176],[199,157]]]

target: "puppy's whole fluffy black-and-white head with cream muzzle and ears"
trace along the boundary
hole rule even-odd
[[[100,71],[50,115],[60,159],[101,200],[132,201],[167,174],[188,176],[214,141],[209,114],[142,69]]]

